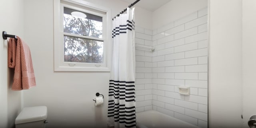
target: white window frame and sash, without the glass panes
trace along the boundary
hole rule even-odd
[[[63,32],[63,8],[72,8],[102,17],[102,39]],[[98,12],[102,12],[98,13]],[[106,13],[106,14],[104,14]],[[64,35],[103,41],[103,64],[64,62]],[[84,0],[54,0],[54,71],[109,72],[111,10]]]

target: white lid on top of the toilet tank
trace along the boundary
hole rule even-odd
[[[15,120],[15,124],[45,120],[47,118],[47,107],[24,107]]]

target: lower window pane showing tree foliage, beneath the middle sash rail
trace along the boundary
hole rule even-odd
[[[64,62],[103,64],[103,41],[64,36]]]

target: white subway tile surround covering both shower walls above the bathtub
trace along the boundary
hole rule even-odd
[[[155,30],[136,26],[136,112],[156,110],[207,128],[207,8]],[[190,87],[180,95],[178,86]]]

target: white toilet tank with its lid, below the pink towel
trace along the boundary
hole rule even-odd
[[[24,107],[15,119],[15,128],[45,128],[47,107]]]

